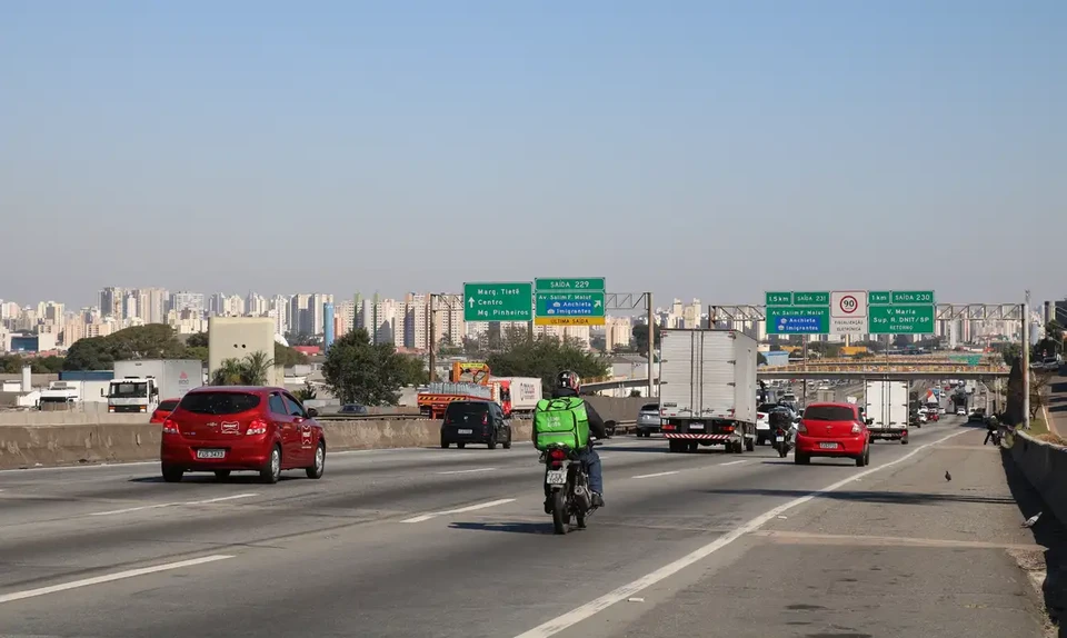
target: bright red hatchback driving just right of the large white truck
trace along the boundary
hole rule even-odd
[[[852,403],[811,403],[797,428],[794,460],[807,465],[811,457],[856,459],[857,467],[870,462],[870,432]]]

